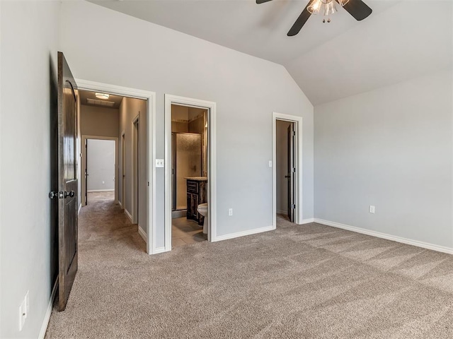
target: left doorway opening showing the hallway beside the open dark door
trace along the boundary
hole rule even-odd
[[[78,107],[81,206],[98,224],[91,232],[103,227],[103,234],[114,234],[130,225],[147,242],[147,100],[79,90]]]

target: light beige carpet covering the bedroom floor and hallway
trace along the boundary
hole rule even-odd
[[[429,227],[429,225],[427,225]],[[453,256],[318,224],[148,256],[113,203],[80,216],[46,338],[453,338]]]

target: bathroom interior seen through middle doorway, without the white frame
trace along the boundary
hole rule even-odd
[[[207,109],[171,105],[171,242],[207,239]]]

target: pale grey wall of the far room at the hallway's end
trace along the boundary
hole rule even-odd
[[[89,191],[115,191],[115,141],[88,139],[87,188]]]

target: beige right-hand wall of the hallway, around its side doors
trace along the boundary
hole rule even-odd
[[[132,130],[134,129],[134,119],[139,117],[139,148],[140,148],[140,169],[139,169],[139,220],[138,225],[142,228],[143,232],[147,232],[147,101],[134,99],[132,97],[125,97],[120,105],[120,150],[122,150],[122,133],[125,133],[125,150],[126,150],[126,194],[125,200],[121,201],[122,207],[127,210],[130,215],[133,215],[132,208],[132,194],[133,194],[133,181],[132,171],[134,167],[132,165]],[[122,155],[120,155],[120,161],[118,161],[120,169],[120,178],[122,178]],[[121,179],[122,180],[122,179]],[[120,199],[122,199],[122,184],[120,186]]]

